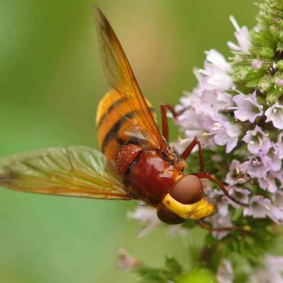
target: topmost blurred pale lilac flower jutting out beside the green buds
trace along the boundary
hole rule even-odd
[[[250,46],[250,39],[249,39],[249,30],[246,26],[240,27],[236,22],[233,16],[229,17],[230,21],[232,22],[235,32],[234,35],[238,41],[238,45],[235,43],[228,41],[227,45],[230,49],[235,51],[241,51],[243,53],[249,53],[248,48]]]

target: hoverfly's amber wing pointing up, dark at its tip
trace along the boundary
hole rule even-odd
[[[110,23],[102,11],[94,5],[94,20],[97,28],[100,56],[106,79],[113,95],[120,95],[127,107],[127,117],[135,116],[134,124],[126,134],[129,140],[139,141],[146,146],[153,146],[161,151],[166,150],[158,127],[141,94],[132,68],[114,33]],[[114,91],[113,91],[114,90]],[[117,100],[115,98],[115,100]]]

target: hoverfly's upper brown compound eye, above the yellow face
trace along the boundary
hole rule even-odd
[[[200,201],[204,195],[204,185],[195,175],[186,175],[173,186],[170,196],[181,204],[191,205]]]

